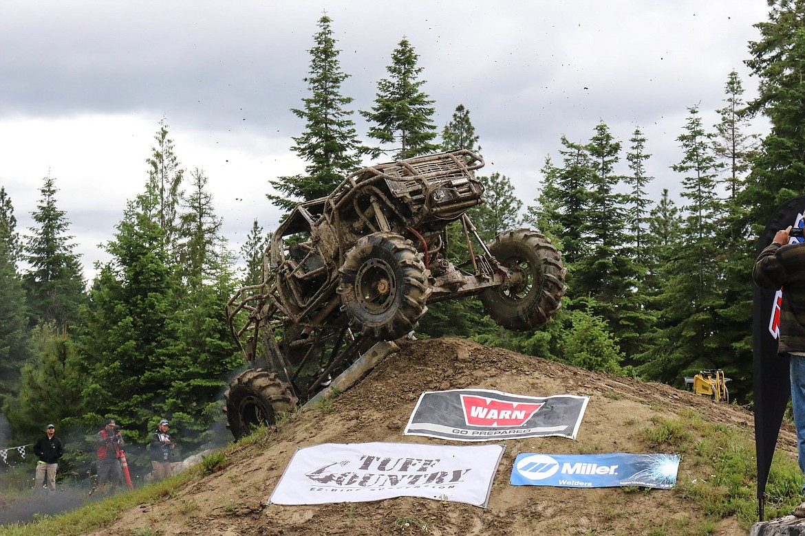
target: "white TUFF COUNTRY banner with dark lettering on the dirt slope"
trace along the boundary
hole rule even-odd
[[[320,444],[300,448],[269,504],[320,505],[424,497],[486,507],[499,444]]]

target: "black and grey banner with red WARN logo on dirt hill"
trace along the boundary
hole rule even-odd
[[[589,397],[522,396],[485,389],[426,391],[404,434],[456,441],[563,436],[576,439]]]

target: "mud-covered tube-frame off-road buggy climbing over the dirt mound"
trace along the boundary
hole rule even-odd
[[[411,333],[427,304],[479,296],[497,324],[527,330],[559,309],[561,257],[530,229],[485,245],[466,215],[482,203],[467,150],[370,166],[300,203],[270,239],[263,280],[227,303],[248,369],[225,392],[235,438],[304,403],[378,341]],[[460,222],[464,260],[448,260]]]

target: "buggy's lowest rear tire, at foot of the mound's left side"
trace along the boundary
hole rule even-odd
[[[276,373],[249,369],[229,382],[224,393],[224,413],[236,440],[248,436],[258,426],[271,426],[277,415],[293,411],[298,399],[291,386]]]

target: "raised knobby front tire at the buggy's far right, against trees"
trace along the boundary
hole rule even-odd
[[[489,252],[515,272],[513,287],[489,288],[481,302],[489,317],[508,329],[534,329],[562,306],[564,274],[561,254],[544,235],[530,229],[504,231]]]

